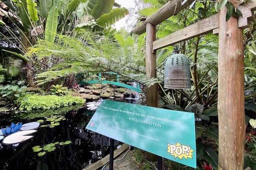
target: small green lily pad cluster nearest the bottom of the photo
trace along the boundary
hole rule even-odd
[[[56,149],[56,146],[58,146],[58,145],[68,145],[68,144],[70,144],[71,143],[71,141],[70,140],[68,140],[68,141],[66,141],[66,142],[55,142],[55,143],[49,143],[48,145],[43,145],[43,146],[35,146],[35,147],[33,147],[32,149],[33,149],[33,151],[34,152],[39,152],[39,151],[42,151],[42,152],[39,152],[37,155],[38,156],[43,156],[43,155],[45,155],[46,154],[46,152],[52,152],[52,151],[54,151],[55,149]]]

